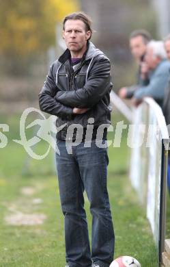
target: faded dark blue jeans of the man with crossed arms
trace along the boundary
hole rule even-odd
[[[107,142],[107,141],[104,141]],[[107,148],[96,142],[84,142],[66,149],[66,142],[57,140],[57,175],[61,209],[64,215],[66,262],[71,267],[90,267],[91,262],[109,267],[113,261],[114,231],[107,191]],[[87,193],[92,216],[91,251],[83,192]]]

